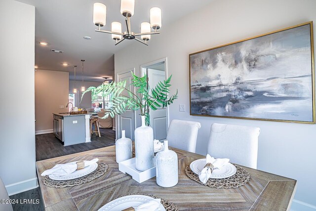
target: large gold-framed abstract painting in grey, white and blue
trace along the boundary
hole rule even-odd
[[[192,53],[190,114],[315,124],[313,22]]]

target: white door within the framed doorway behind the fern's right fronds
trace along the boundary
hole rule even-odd
[[[154,88],[159,81],[165,80],[165,71],[147,68],[148,84]],[[150,109],[150,125],[154,130],[154,138],[163,140],[167,137],[167,116],[166,108],[159,108],[156,111]]]

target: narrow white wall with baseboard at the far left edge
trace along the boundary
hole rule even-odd
[[[14,194],[37,186],[35,7],[1,0],[0,25],[0,177],[8,193]]]

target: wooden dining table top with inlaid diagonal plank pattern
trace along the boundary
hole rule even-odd
[[[46,211],[97,211],[103,205],[129,193],[153,194],[173,202],[180,211],[286,211],[290,209],[296,180],[264,171],[247,169],[250,180],[239,188],[216,189],[190,179],[185,167],[204,156],[173,148],[179,159],[179,183],[171,188],[157,185],[156,177],[138,183],[118,170],[115,146],[36,162],[40,190]],[[52,188],[40,174],[56,164],[92,160],[108,164],[101,177],[74,187]]]

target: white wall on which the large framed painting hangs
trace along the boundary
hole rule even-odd
[[[169,107],[173,119],[200,122],[197,153],[205,154],[212,123],[256,126],[259,137],[258,169],[298,180],[298,210],[316,209],[316,125],[195,117],[189,114],[189,54],[257,36],[274,30],[316,21],[315,0],[214,0],[152,36],[149,46],[133,42],[115,54],[115,73],[167,57],[167,74],[173,75],[171,93],[179,99]],[[128,41],[131,42],[131,41]],[[124,43],[123,43],[124,44]],[[179,104],[186,112],[179,112]],[[299,201],[297,201],[299,200]],[[314,208],[314,209],[313,209]]]

